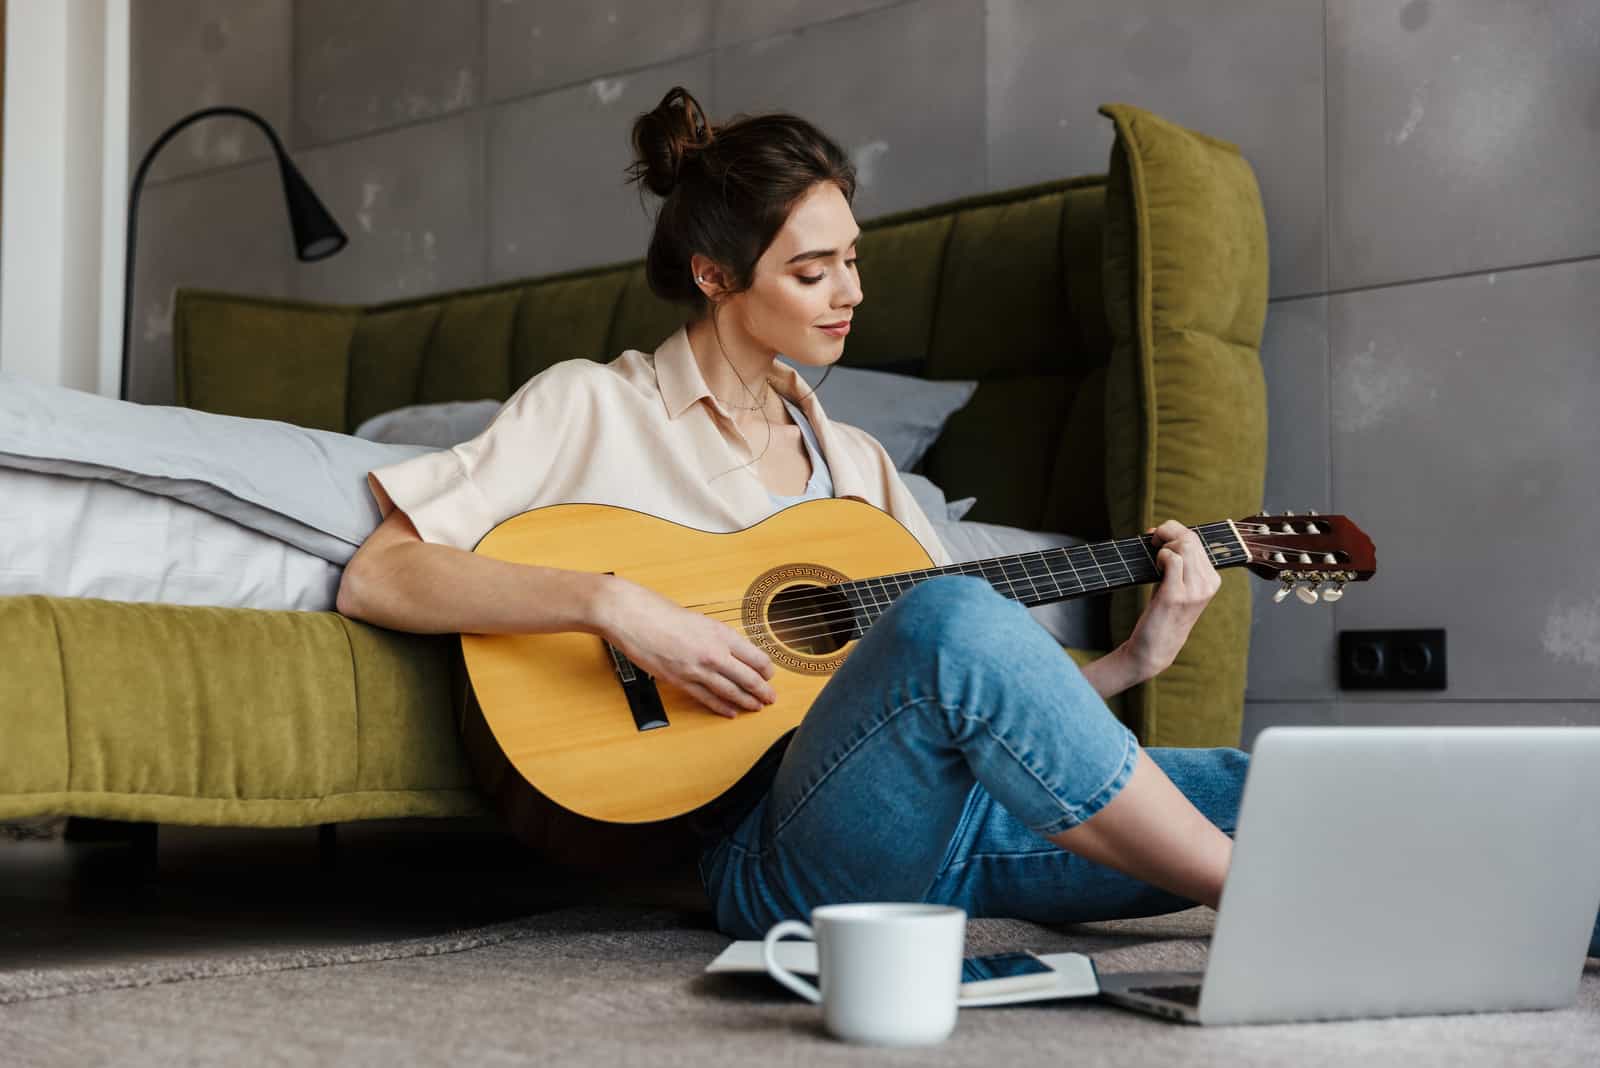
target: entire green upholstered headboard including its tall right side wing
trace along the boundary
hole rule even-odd
[[[1238,149],[1123,104],[1109,174],[866,221],[846,366],[978,379],[922,472],[971,520],[1125,537],[1261,508],[1267,237]],[[504,400],[550,363],[654,349],[682,321],[642,261],[371,307],[181,289],[178,403],[350,430],[403,404]],[[827,404],[827,385],[821,400]],[[1125,694],[1150,745],[1234,745],[1250,577]],[[1150,588],[1110,598],[1109,644]]]

